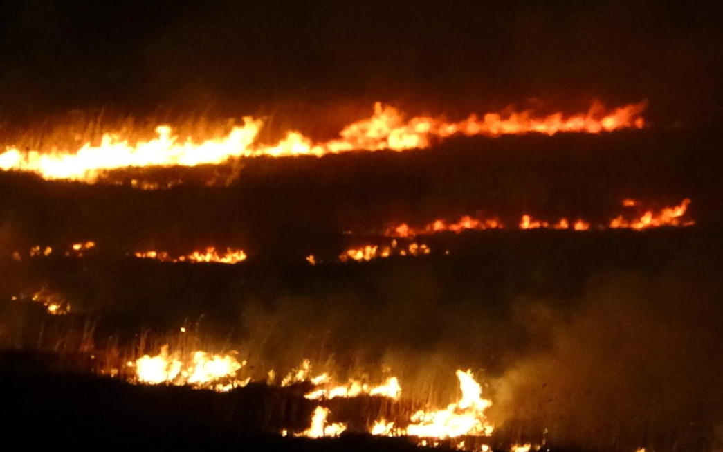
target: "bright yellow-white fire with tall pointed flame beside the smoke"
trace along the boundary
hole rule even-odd
[[[457,371],[462,398],[447,409],[424,412],[420,410],[411,417],[406,435],[419,438],[456,438],[463,435],[492,435],[494,427],[489,425],[484,410],[492,401],[481,397],[482,388],[472,377],[469,370]]]

